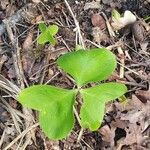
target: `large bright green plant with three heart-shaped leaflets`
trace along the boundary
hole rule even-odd
[[[80,110],[82,128],[97,130],[105,114],[105,103],[122,96],[127,88],[120,83],[103,83],[116,68],[115,55],[109,50],[91,49],[69,52],[59,57],[58,66],[76,81],[76,89],[35,85],[19,94],[19,102],[39,111],[40,126],[50,139],[65,138],[74,126],[73,105],[77,93],[83,104]],[[84,85],[95,82],[94,87]]]

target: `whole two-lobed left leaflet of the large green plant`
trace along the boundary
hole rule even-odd
[[[19,102],[39,111],[40,125],[51,139],[66,137],[74,125],[75,90],[37,85],[22,90]]]

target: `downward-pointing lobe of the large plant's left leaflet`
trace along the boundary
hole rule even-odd
[[[63,139],[70,133],[74,126],[73,104],[74,101],[67,98],[62,103],[52,103],[40,113],[40,126],[50,139]]]

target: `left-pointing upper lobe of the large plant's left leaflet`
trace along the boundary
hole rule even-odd
[[[55,101],[63,102],[70,98],[73,90],[66,90],[50,85],[34,85],[26,88],[19,93],[18,101],[29,108],[35,110],[45,110]]]

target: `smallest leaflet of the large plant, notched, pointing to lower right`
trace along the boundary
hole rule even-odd
[[[122,96],[127,91],[124,84],[104,83],[88,89],[81,89],[83,105],[80,110],[81,126],[97,130],[104,116],[105,103]]]

